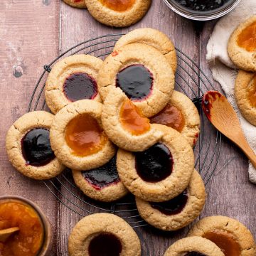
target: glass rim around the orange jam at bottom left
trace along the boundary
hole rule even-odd
[[[44,231],[44,238],[43,238],[43,245],[41,246],[41,250],[38,252],[37,256],[46,256],[50,253],[50,247],[51,247],[51,238],[52,238],[52,232],[50,228],[50,223],[46,215],[43,213],[41,208],[39,208],[36,203],[33,203],[32,201],[23,198],[22,196],[0,196],[0,203],[4,202],[18,202],[23,203],[26,206],[31,206],[33,210],[36,211],[39,218],[41,218],[41,222],[43,224],[43,231]]]

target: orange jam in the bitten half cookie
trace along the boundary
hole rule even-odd
[[[149,131],[149,119],[143,117],[142,112],[132,104],[131,100],[125,100],[122,104],[119,119],[124,129],[133,135],[144,134]]]

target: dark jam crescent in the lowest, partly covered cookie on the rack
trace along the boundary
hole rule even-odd
[[[150,203],[152,208],[161,211],[165,215],[175,215],[181,213],[183,208],[188,202],[188,192],[185,190],[175,198],[161,202],[161,203]]]

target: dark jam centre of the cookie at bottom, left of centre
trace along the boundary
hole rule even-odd
[[[92,238],[88,250],[90,256],[119,256],[122,252],[122,244],[115,235],[101,233]]]

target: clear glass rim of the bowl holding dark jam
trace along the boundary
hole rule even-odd
[[[181,4],[178,4],[175,0],[164,0],[164,2],[171,10],[175,11],[176,14],[179,14],[185,18],[190,18],[194,21],[210,21],[228,14],[235,8],[235,6],[239,4],[240,0],[230,0],[220,8],[211,11],[194,11],[181,6]]]

